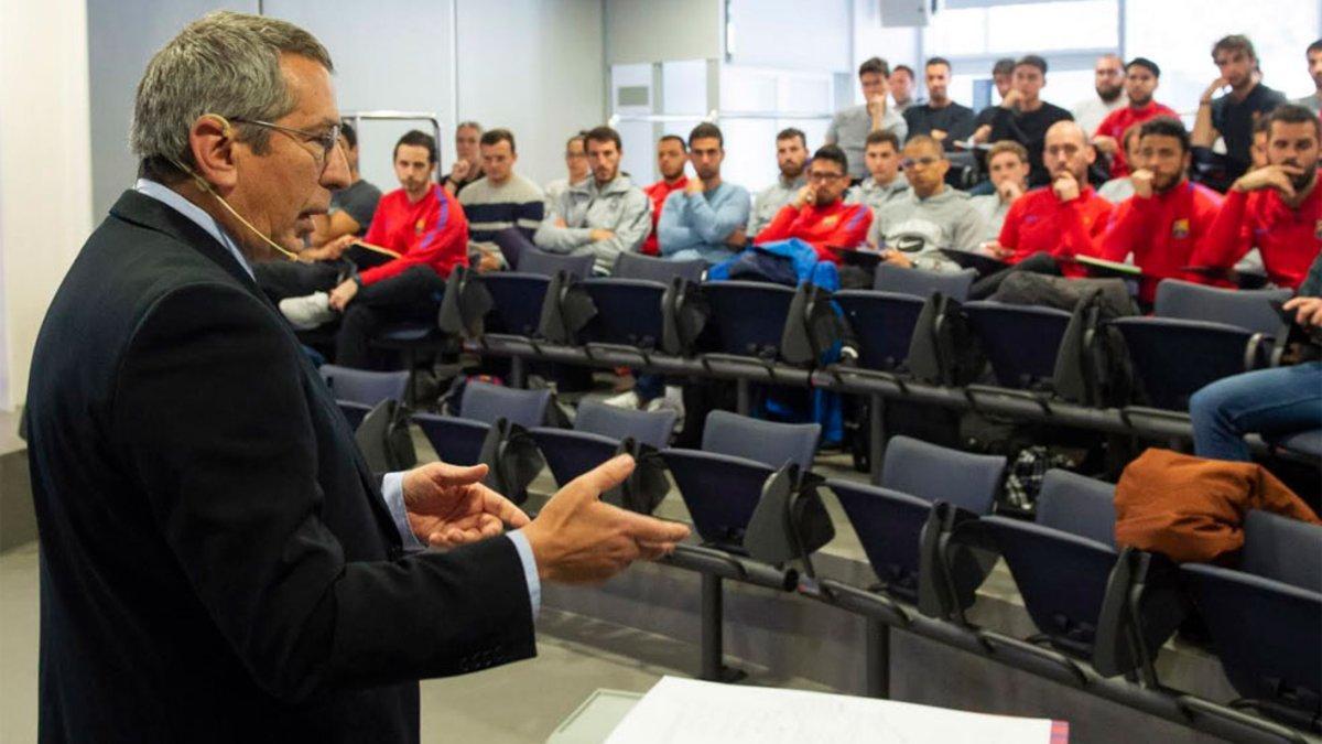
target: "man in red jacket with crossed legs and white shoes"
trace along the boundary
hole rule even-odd
[[[369,343],[387,322],[435,319],[438,293],[455,266],[468,265],[468,221],[459,201],[434,183],[436,140],[410,131],[395,144],[401,188],[381,197],[364,242],[399,258],[360,271],[330,290],[280,302],[295,328],[313,328],[344,314],[336,363],[370,365]],[[341,238],[342,240],[342,238]]]

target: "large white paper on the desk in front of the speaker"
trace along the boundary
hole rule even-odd
[[[607,744],[1050,744],[1051,720],[665,676]]]

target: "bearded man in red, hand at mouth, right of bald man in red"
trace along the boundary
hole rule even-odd
[[[1179,119],[1158,116],[1142,124],[1138,152],[1142,162],[1129,176],[1134,196],[1116,207],[1097,256],[1124,261],[1132,253],[1144,270],[1138,299],[1151,304],[1161,279],[1199,279],[1181,269],[1190,265],[1194,246],[1211,229],[1222,197],[1186,176],[1191,154],[1188,131]]]

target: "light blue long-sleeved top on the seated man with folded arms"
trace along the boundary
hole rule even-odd
[[[711,191],[677,191],[666,197],[657,220],[657,244],[666,258],[701,257],[720,263],[735,252],[726,245],[730,233],[748,225],[752,203],[748,189],[720,184]]]

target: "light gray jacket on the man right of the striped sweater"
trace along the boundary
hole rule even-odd
[[[558,220],[564,221],[563,228],[555,224]],[[615,234],[594,241],[591,233],[595,229]],[[616,257],[637,252],[650,232],[652,204],[628,176],[619,175],[600,188],[595,179],[587,179],[568,187],[559,199],[549,200],[546,217],[537,228],[533,242],[551,253],[591,253],[596,257],[592,269],[598,274],[608,274]]]

